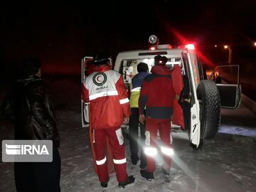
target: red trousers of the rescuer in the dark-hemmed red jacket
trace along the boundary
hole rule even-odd
[[[161,154],[161,146],[158,146],[157,142],[157,132],[159,130],[160,138],[161,138],[161,146],[164,146],[167,149],[172,149],[171,146],[171,119],[152,119],[150,117],[146,117],[146,146],[151,148],[160,149],[158,150],[157,156]],[[171,168],[171,156],[163,154],[164,157],[164,169]],[[146,171],[154,172],[156,169],[156,156],[146,155],[147,165]]]

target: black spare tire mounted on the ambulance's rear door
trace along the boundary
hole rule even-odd
[[[220,127],[220,93],[213,80],[202,80],[196,90],[200,105],[201,139],[213,139]]]

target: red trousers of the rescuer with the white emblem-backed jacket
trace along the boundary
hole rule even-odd
[[[122,129],[95,129],[95,154],[97,173],[100,182],[107,181],[107,157],[105,154],[107,137],[113,154],[114,169],[117,172],[117,181],[127,180],[127,161],[125,157],[124,137]]]

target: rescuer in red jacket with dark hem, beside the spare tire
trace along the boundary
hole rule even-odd
[[[139,121],[144,122],[144,108],[146,107],[146,141],[145,154],[147,156],[146,169],[140,172],[148,181],[154,180],[156,169],[155,156],[158,152],[157,132],[159,131],[162,145],[161,153],[164,156],[162,170],[170,174],[171,154],[171,115],[173,102],[176,97],[171,78],[171,69],[166,66],[167,58],[156,55],[151,75],[146,76],[139,96]]]

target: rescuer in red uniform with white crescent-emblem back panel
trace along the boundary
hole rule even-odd
[[[94,72],[82,83],[82,100],[90,102],[90,121],[95,134],[97,173],[101,186],[107,187],[110,179],[107,170],[105,148],[107,137],[113,154],[114,169],[119,187],[133,183],[134,176],[127,176],[124,137],[121,125],[129,121],[131,109],[122,75],[111,70],[108,56],[100,52],[95,55]]]

